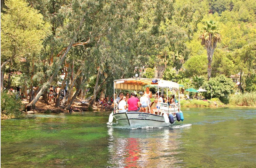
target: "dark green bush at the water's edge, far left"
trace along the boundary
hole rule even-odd
[[[22,116],[23,104],[14,94],[4,91],[1,94],[1,118],[16,118]]]

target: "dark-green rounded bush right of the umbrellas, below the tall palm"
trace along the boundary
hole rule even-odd
[[[212,87],[212,95],[213,97],[219,98],[223,103],[227,104],[229,95],[234,93],[234,82],[232,79],[225,77],[225,75],[219,75],[218,77],[211,78],[207,84]],[[210,86],[206,85],[205,89],[208,92],[205,94],[206,97],[210,98]]]

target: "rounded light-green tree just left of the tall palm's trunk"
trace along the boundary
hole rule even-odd
[[[207,56],[198,55],[189,58],[183,65],[187,77],[207,73]]]

